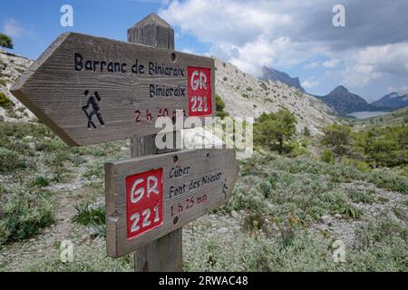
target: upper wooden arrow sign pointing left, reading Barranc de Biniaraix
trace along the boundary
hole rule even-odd
[[[212,116],[214,60],[62,34],[12,88],[69,145],[157,133],[159,117]]]

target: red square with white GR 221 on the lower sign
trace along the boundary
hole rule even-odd
[[[126,224],[128,238],[163,224],[163,169],[126,178]]]

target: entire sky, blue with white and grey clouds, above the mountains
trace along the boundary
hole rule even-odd
[[[344,85],[368,102],[408,92],[407,0],[0,0],[0,31],[14,53],[36,59],[67,31],[126,41],[156,13],[175,30],[176,50],[214,55],[257,77],[262,66],[298,76],[306,92]],[[73,27],[61,7],[73,6]],[[335,27],[335,5],[345,26]]]

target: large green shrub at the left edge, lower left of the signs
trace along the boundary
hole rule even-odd
[[[0,194],[0,245],[32,237],[53,224],[50,192],[12,184]]]

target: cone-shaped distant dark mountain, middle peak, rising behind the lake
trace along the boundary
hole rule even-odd
[[[373,107],[362,97],[348,92],[344,86],[338,86],[328,95],[316,98],[325,102],[339,115],[346,115],[354,111],[372,111]]]

